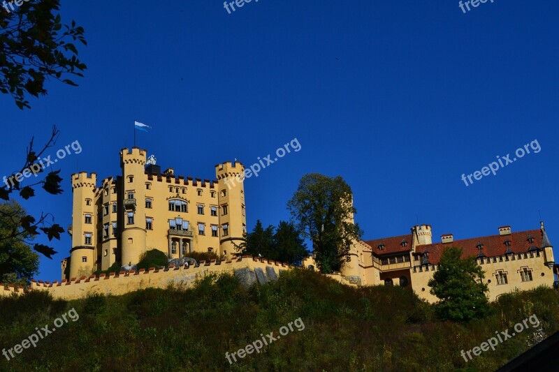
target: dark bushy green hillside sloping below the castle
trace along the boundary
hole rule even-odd
[[[462,325],[437,320],[433,306],[409,290],[349,288],[296,269],[250,290],[223,275],[189,290],[73,302],[41,292],[0,299],[0,349],[22,343],[36,327],[55,328],[72,308],[78,320],[9,361],[0,355],[0,371],[493,371],[559,329],[559,295],[549,288],[500,297],[490,318]],[[534,314],[538,327],[528,323],[469,362],[460,356]],[[270,332],[275,341],[233,360],[247,344],[270,341]]]

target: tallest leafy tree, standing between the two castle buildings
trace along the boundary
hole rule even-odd
[[[287,203],[296,227],[312,239],[314,260],[324,274],[338,271],[349,262],[352,241],[363,235],[353,222],[357,211],[352,199],[351,188],[342,177],[310,173],[300,179]]]

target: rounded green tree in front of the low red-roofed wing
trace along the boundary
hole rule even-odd
[[[428,285],[431,294],[440,299],[436,311],[442,319],[469,322],[488,314],[488,288],[483,283],[484,271],[475,258],[461,256],[460,248],[445,249]]]

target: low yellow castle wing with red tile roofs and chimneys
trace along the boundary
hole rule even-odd
[[[503,226],[498,235],[488,237],[454,240],[452,234],[444,234],[440,243],[433,243],[430,225],[417,225],[408,235],[357,242],[341,274],[360,285],[401,285],[436,302],[427,283],[442,251],[450,246],[462,248],[463,257],[476,258],[484,269],[491,300],[515,289],[553,285],[553,247],[543,222],[537,230],[522,232]],[[312,259],[305,260],[306,265],[314,265]]]

